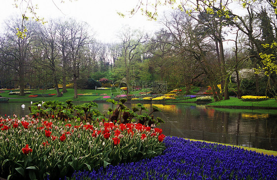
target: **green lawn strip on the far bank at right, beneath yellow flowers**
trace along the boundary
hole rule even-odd
[[[265,101],[242,101],[237,97],[230,97],[228,100],[221,100],[207,104],[208,106],[244,106],[244,107],[275,107],[277,108],[277,101],[269,99]]]

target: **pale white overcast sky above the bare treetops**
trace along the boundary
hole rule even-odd
[[[24,0],[29,1],[29,0]],[[46,21],[55,17],[70,17],[87,22],[96,32],[95,38],[102,42],[118,41],[118,32],[124,26],[152,33],[158,30],[158,22],[147,20],[140,12],[133,17],[120,17],[117,12],[127,13],[136,7],[138,0],[32,0],[33,5],[37,4],[35,10],[39,17]],[[10,16],[20,16],[26,8],[26,4],[16,8],[14,0],[0,0],[0,23],[3,23]],[[55,5],[56,4],[56,5]],[[1,27],[3,25],[1,24]]]

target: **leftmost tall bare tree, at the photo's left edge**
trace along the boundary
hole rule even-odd
[[[18,29],[21,27],[20,19],[10,19],[6,21],[6,33],[4,34],[5,42],[2,44],[1,62],[5,65],[11,66],[14,69],[16,76],[13,81],[17,81],[19,84],[20,95],[24,95],[24,87],[26,85],[25,75],[29,73],[28,67],[32,64],[31,60],[31,48],[34,42],[34,29],[36,23],[34,21],[26,21],[26,27],[28,31],[25,35],[18,37]]]

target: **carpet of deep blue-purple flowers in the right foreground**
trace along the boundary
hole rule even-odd
[[[274,180],[277,157],[231,146],[166,137],[162,155],[75,172],[74,180]]]

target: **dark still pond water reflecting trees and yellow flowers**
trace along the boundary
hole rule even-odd
[[[30,103],[0,103],[0,116],[28,115]],[[110,103],[98,103],[98,110],[107,115]],[[165,135],[227,143],[244,147],[277,150],[277,110],[210,108],[195,103],[147,103],[162,112],[154,117],[165,120],[159,127]],[[130,108],[136,106],[127,103]]]

